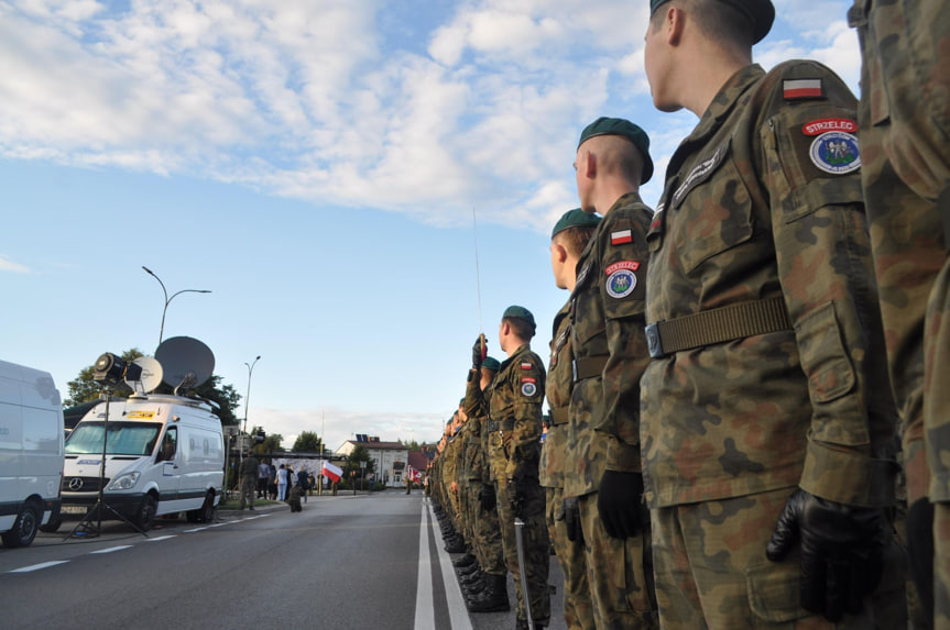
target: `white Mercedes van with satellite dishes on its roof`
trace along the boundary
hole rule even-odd
[[[97,371],[106,356],[97,362]],[[108,357],[121,362],[114,355]],[[141,374],[129,379],[128,365],[138,365]],[[207,380],[214,369],[210,350],[197,340],[173,338],[159,346],[154,358],[137,358],[128,365],[122,364],[121,372],[135,394],[103,400],[66,440],[63,510],[86,513],[99,498],[101,477],[102,502],[142,531],[152,527],[155,517],[167,513],[186,512],[193,522],[214,520],[225,476],[220,418],[201,400],[148,394],[161,384],[163,374],[174,387]],[[108,509],[100,516],[112,518]]]

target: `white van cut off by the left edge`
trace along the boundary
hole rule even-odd
[[[59,515],[63,405],[48,372],[0,361],[0,538],[25,546]]]

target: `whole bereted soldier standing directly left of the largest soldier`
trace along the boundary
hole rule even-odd
[[[598,628],[657,626],[640,456],[652,212],[637,190],[653,174],[648,148],[635,124],[600,118],[581,132],[575,159],[580,206],[603,220],[580,255],[571,294],[574,468],[565,515],[568,533],[586,545]]]

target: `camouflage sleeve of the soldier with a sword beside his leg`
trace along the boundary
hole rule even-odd
[[[509,385],[513,400],[509,417],[514,420],[514,427],[506,471],[509,477],[521,465],[537,465],[545,387],[545,372],[535,355],[522,357],[512,367]]]

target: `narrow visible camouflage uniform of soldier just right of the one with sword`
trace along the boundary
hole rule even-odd
[[[570,301],[554,318],[547,367],[547,435],[540,447],[539,482],[547,495],[547,531],[564,573],[564,619],[568,628],[596,628],[583,541],[570,541],[564,520],[564,473],[567,467],[567,422],[574,388],[570,351]]]

